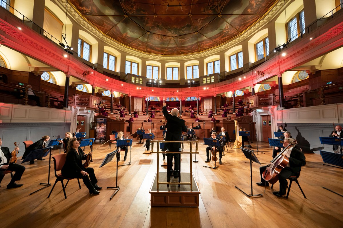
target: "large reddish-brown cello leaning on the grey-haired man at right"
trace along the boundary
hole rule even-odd
[[[298,144],[297,140],[294,140],[293,143],[289,144],[284,148],[279,155],[277,155],[271,163],[268,165],[267,169],[262,174],[262,178],[270,184],[275,184],[279,179],[279,174],[281,170],[287,166],[289,159],[286,156],[283,156],[283,152],[288,149],[288,147]]]

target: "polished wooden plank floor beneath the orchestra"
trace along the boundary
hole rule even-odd
[[[81,180],[79,189],[76,180],[71,180],[64,199],[58,183],[47,198],[51,187],[29,195],[39,189],[39,183],[47,182],[48,159],[25,164],[22,180],[16,189],[6,189],[10,175],[1,183],[0,219],[2,227],[343,227],[343,197],[322,187],[343,194],[343,170],[323,166],[320,155],[306,154],[306,166],[299,178],[307,199],[304,199],[296,183],[293,183],[289,198],[276,197],[273,189],[257,186],[260,181],[259,165],[252,164],[253,193],[262,197],[248,198],[235,186],[250,193],[250,165],[241,150],[229,149],[223,164],[217,170],[203,167],[205,145],[199,143],[197,159],[193,163],[193,174],[200,189],[199,207],[151,207],[149,190],[157,167],[156,154],[143,154],[143,144],[133,143],[131,165],[121,166],[118,171],[120,190],[110,200],[116,186],[116,164],[111,162],[99,168],[102,159],[110,152],[104,145],[94,152],[91,167],[95,169],[100,194],[90,196]],[[96,144],[94,148],[97,148]],[[260,145],[260,143],[259,143]],[[256,149],[254,144],[252,149]],[[187,146],[185,145],[185,150]],[[271,160],[271,148],[261,143],[258,159],[263,163]],[[88,152],[86,149],[85,152]],[[59,150],[53,150],[53,154]],[[122,164],[123,153],[121,155]],[[128,161],[128,160],[127,160]],[[18,160],[21,162],[21,160]],[[162,156],[160,157],[160,163]],[[182,155],[181,172],[189,172],[190,159]],[[213,164],[211,164],[213,165]],[[166,172],[159,166],[160,172]],[[54,164],[51,164],[50,182],[55,182]]]

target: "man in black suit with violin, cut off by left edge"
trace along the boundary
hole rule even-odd
[[[19,147],[16,148],[16,150],[19,150]],[[25,167],[23,165],[15,164],[15,163],[8,163],[11,159],[11,152],[8,149],[8,147],[2,146],[2,139],[0,138],[0,183],[5,176],[3,173],[4,171],[13,171],[15,174],[13,175],[10,183],[7,185],[7,189],[10,188],[18,188],[23,186],[23,184],[16,184],[14,183],[16,180],[20,180],[21,176],[23,175],[25,171]],[[0,186],[1,187],[1,186]]]

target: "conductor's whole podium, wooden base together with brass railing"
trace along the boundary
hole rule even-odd
[[[161,151],[159,143],[189,143],[190,151]],[[157,151],[151,151],[151,153],[157,153],[157,172],[152,183],[151,194],[151,206],[177,206],[177,207],[198,207],[199,206],[199,194],[200,190],[195,181],[192,173],[192,155],[198,152],[199,141],[165,141],[165,140],[152,140],[151,143],[157,143]],[[192,144],[195,144],[192,147]],[[152,147],[154,148],[154,147]],[[177,182],[178,178],[170,178],[170,182],[167,182],[167,172],[160,172],[159,160],[160,154],[166,153],[183,153],[190,156],[190,172],[180,173],[180,182]],[[180,170],[181,170],[180,163]],[[185,164],[184,164],[185,165]],[[178,187],[180,186],[180,187]]]

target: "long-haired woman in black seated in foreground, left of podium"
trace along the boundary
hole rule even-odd
[[[62,176],[67,178],[82,178],[89,193],[97,195],[100,193],[97,190],[102,189],[102,187],[96,184],[98,181],[93,168],[84,168],[82,166],[82,160],[86,160],[86,155],[80,148],[80,143],[76,138],[70,139],[67,147],[66,163],[64,163],[61,170]]]

